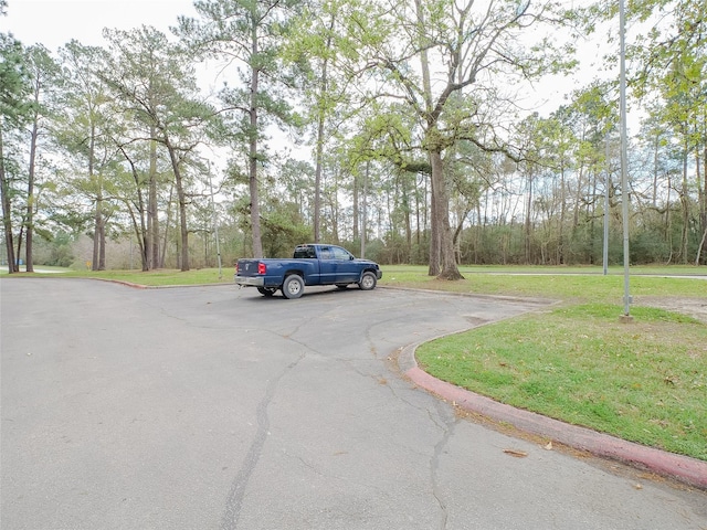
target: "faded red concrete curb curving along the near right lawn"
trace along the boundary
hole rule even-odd
[[[568,447],[585,451],[594,456],[619,460],[673,478],[688,486],[707,490],[707,462],[676,455],[645,445],[626,442],[591,428],[571,425],[516,409],[489,398],[476,394],[454,384],[441,381],[418,367],[414,352],[420,346],[411,344],[400,352],[399,367],[418,386],[454,403],[461,409],[490,420],[508,423],[526,433],[544,436]]]

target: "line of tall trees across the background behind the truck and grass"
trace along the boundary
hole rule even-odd
[[[632,263],[707,263],[707,8],[631,6],[622,190],[615,81],[519,112],[616,25],[563,3],[208,0],[105,46],[2,33],[2,258],[187,271],[327,241],[453,279],[601,263],[605,233],[620,263],[627,200]]]

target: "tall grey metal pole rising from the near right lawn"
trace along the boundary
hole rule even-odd
[[[630,282],[629,282],[629,178],[626,171],[626,15],[624,0],[619,0],[619,25],[621,40],[621,203],[623,206],[623,317],[625,321],[631,321],[630,306]]]

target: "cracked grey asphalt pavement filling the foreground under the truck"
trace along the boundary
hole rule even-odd
[[[705,492],[460,418],[390,360],[531,303],[54,277],[0,294],[2,529],[707,528]]]

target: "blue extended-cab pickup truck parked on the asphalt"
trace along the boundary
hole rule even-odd
[[[376,262],[357,259],[340,246],[299,245],[291,259],[239,259],[233,279],[241,287],[257,287],[264,296],[281,290],[285,298],[299,298],[305,285],[336,285],[345,289],[357,284],[370,290],[382,275]]]

